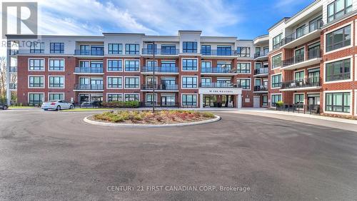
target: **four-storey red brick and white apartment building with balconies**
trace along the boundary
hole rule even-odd
[[[253,40],[178,31],[39,36],[25,46],[29,36],[8,35],[15,45],[7,75],[17,75],[8,101],[201,108],[274,108],[283,101],[294,110],[355,116],[356,10],[357,0],[316,0]]]

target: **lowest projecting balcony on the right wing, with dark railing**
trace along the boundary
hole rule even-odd
[[[296,81],[287,81],[281,84],[281,91],[305,91],[321,88],[321,78],[306,78]]]

